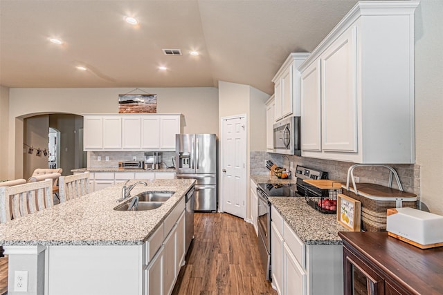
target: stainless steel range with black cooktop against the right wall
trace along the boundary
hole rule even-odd
[[[258,196],[258,249],[266,274],[266,280],[271,280],[271,202],[269,197],[303,197],[310,193],[320,192],[316,187],[303,182],[304,179],[326,179],[327,173],[303,166],[296,168],[296,184],[257,184]]]

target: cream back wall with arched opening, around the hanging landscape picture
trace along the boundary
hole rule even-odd
[[[118,113],[118,95],[134,88],[10,88],[8,171],[22,175],[23,118],[39,113]],[[157,94],[157,113],[183,113],[185,133],[218,133],[217,88],[143,88]],[[142,92],[140,92],[142,93]],[[17,118],[17,119],[16,119]]]

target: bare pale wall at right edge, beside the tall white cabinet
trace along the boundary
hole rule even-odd
[[[415,12],[415,152],[422,201],[443,215],[443,1]]]

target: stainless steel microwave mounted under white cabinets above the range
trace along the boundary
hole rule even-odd
[[[301,155],[300,117],[288,117],[273,126],[274,153]]]

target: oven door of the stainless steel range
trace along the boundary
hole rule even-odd
[[[271,204],[264,192],[257,188],[258,196],[258,249],[266,274],[266,280],[271,280]]]

